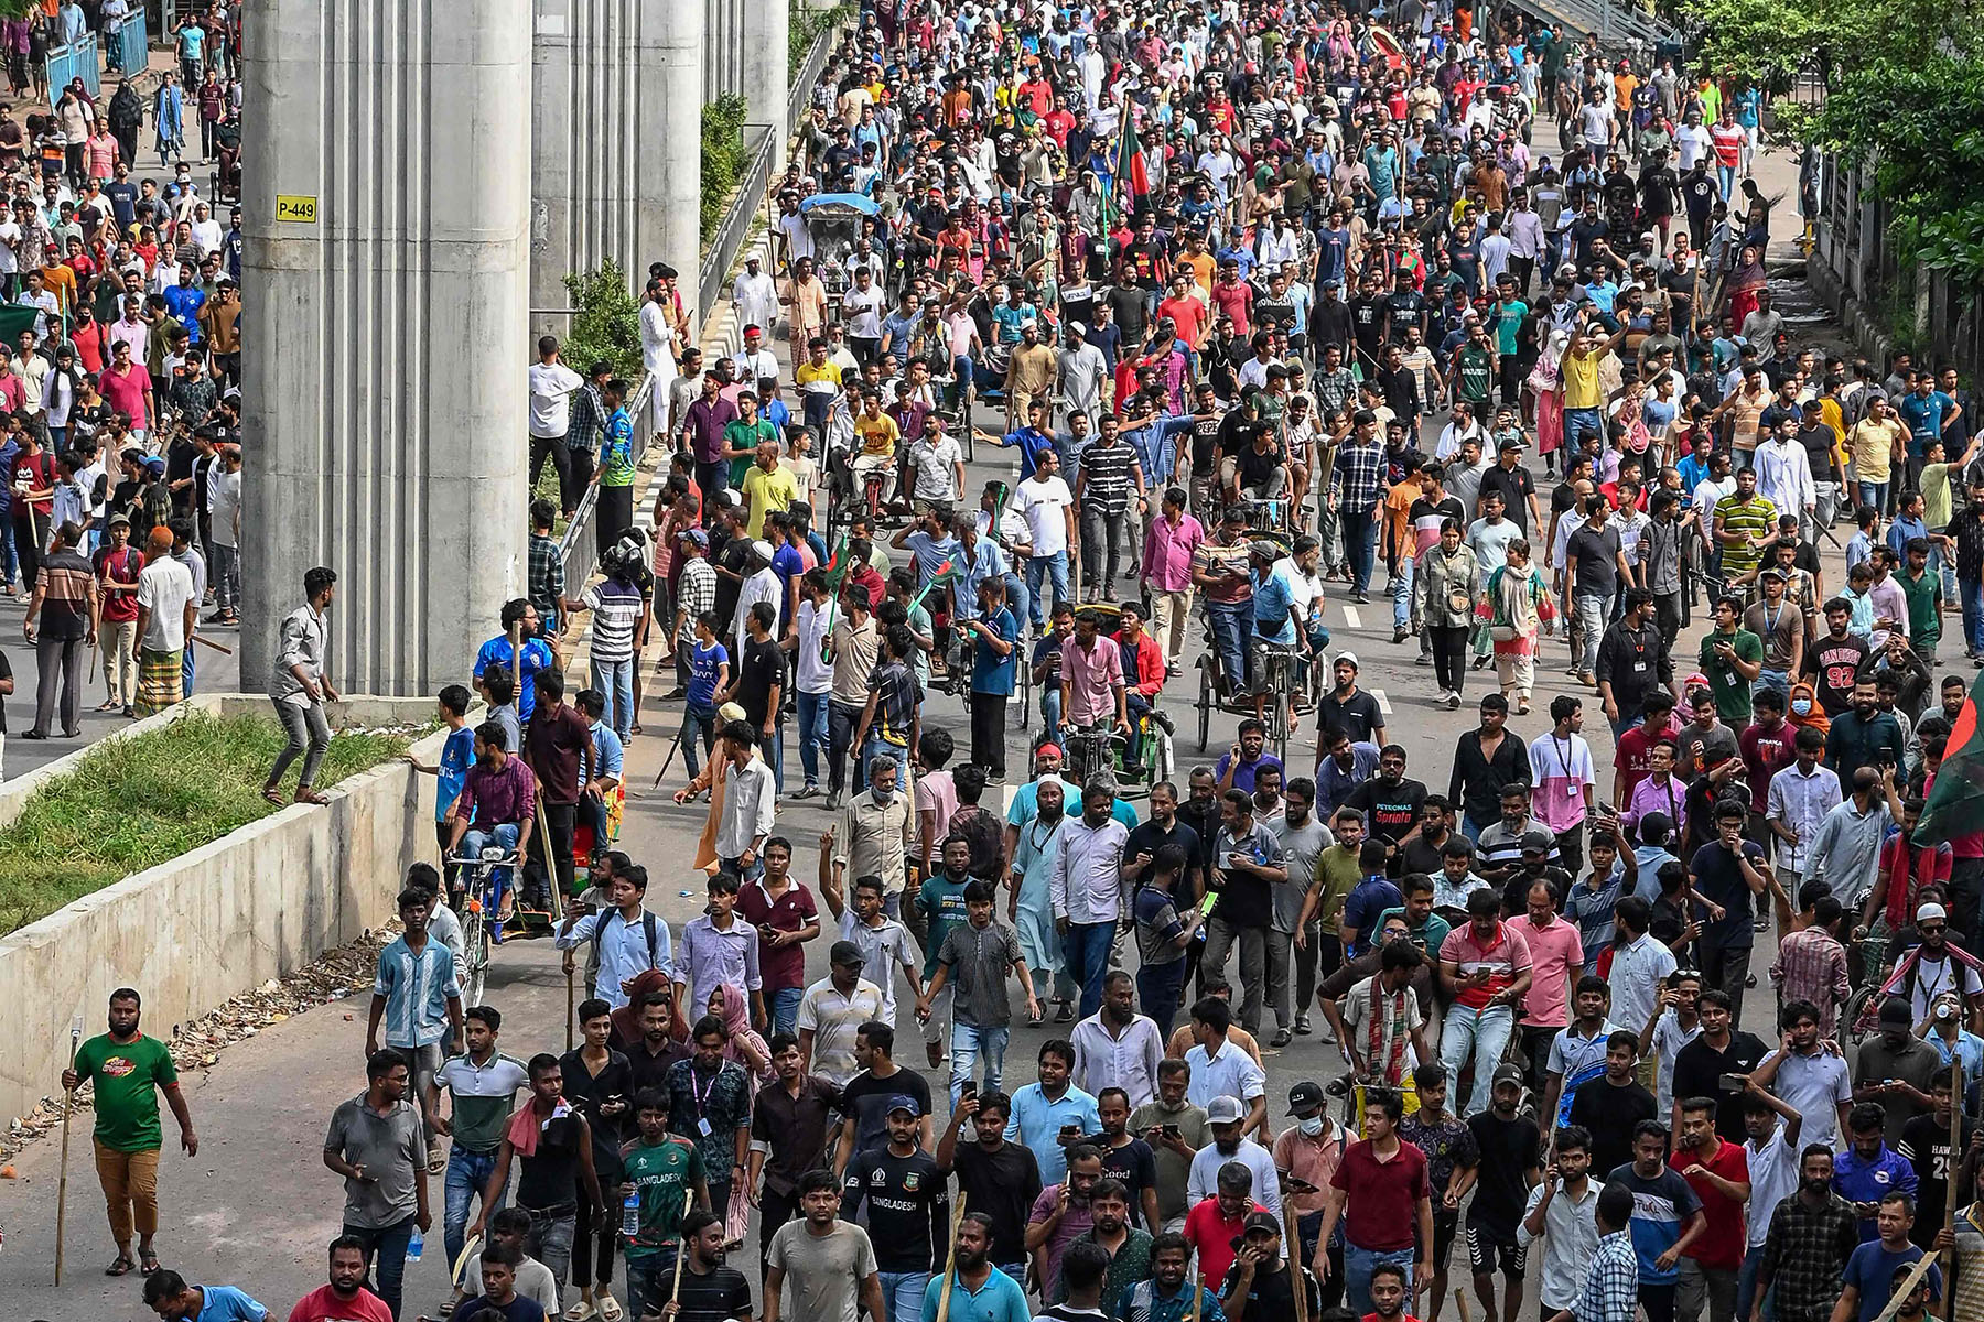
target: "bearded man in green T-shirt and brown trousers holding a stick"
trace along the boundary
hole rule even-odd
[[[179,1146],[188,1157],[200,1152],[200,1140],[192,1132],[192,1112],[186,1110],[186,1098],[179,1090],[173,1052],[159,1039],[139,1033],[139,995],[131,987],[113,991],[109,1033],[83,1043],[75,1052],[75,1064],[62,1072],[62,1086],[69,1092],[85,1078],[97,1084],[97,1181],[109,1205],[111,1239],[117,1241],[117,1257],[105,1268],[111,1276],[123,1276],[133,1267],[143,1267],[145,1274],[159,1270],[159,1255],[153,1251],[159,1233],[163,1148],[159,1090],[165,1092],[165,1104],[179,1122]],[[133,1229],[139,1237],[137,1261],[131,1259]]]

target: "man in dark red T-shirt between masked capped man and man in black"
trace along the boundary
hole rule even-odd
[[[1371,1312],[1371,1270],[1379,1263],[1411,1265],[1413,1280],[1432,1276],[1432,1191],[1426,1154],[1399,1138],[1405,1102],[1389,1088],[1365,1094],[1365,1140],[1343,1150],[1329,1177],[1323,1227],[1311,1263],[1329,1280],[1329,1239],[1343,1219],[1343,1302]],[[1349,1199],[1349,1189],[1357,1197]],[[1417,1249],[1415,1249],[1417,1245]]]

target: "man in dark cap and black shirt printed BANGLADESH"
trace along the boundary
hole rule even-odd
[[[950,1251],[950,1185],[917,1142],[923,1108],[897,1094],[887,1102],[889,1142],[855,1154],[841,1181],[841,1211],[855,1219],[869,1205],[869,1239],[887,1314],[875,1322],[923,1316],[930,1270]]]

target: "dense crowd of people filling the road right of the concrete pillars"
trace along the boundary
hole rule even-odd
[[[559,499],[438,694],[442,866],[587,874],[581,1045],[506,1052],[417,864],[290,1316],[1984,1316],[1984,832],[1917,830],[1984,464],[1954,371],[1790,339],[1760,91],[1448,0],[911,0],[813,97],[744,347],[645,285],[651,537],[631,383],[542,341]],[[1425,694],[1361,686],[1387,646]],[[1167,771],[1194,664],[1230,747]],[[1401,735],[1464,704],[1428,785]],[[708,805],[686,924],[611,846],[643,737]],[[109,1015],[109,1270],[266,1316],[161,1263],[194,1118]]]

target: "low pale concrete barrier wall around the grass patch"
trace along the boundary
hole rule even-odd
[[[194,704],[268,710],[266,700],[240,696]],[[357,719],[341,723],[357,725],[433,712],[425,700],[347,706]],[[413,751],[431,763],[442,739],[436,731]],[[63,763],[48,771],[60,775]],[[8,797],[24,793],[6,789]],[[113,987],[137,987],[147,1031],[165,1037],[387,922],[407,866],[433,852],[434,779],[393,761],[339,783],[329,799],[321,809],[292,805],[0,939],[8,1017],[0,1118],[24,1116],[60,1092],[71,1019],[81,1015],[85,1037],[101,1033]]]

